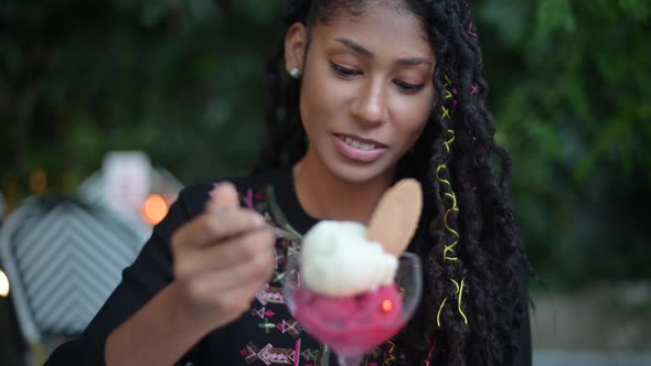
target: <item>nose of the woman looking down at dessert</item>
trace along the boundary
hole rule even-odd
[[[364,83],[351,104],[352,115],[364,123],[384,123],[388,116],[384,88],[380,82]]]

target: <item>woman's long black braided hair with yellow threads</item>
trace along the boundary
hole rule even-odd
[[[289,1],[286,30],[302,22],[309,31],[341,11],[354,21],[367,2]],[[469,1],[383,2],[408,11],[423,25],[437,57],[433,78],[438,92],[423,134],[397,170],[397,177],[416,177],[424,187],[424,212],[409,247],[424,262],[424,295],[418,321],[383,347],[385,359],[513,365],[522,322],[529,321],[521,273],[530,266],[509,195],[511,161],[494,141],[495,123],[484,105],[488,85]],[[267,141],[258,171],[294,164],[307,148],[300,82],[286,75],[282,57],[281,44],[267,64]]]

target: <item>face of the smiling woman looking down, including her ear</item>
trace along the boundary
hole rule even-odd
[[[436,60],[420,23],[406,11],[369,6],[310,32],[309,45],[299,24],[286,39],[288,69],[302,68],[305,161],[348,182],[393,179],[435,101]]]

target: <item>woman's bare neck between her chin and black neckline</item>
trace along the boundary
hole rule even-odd
[[[308,153],[294,166],[294,184],[303,209],[312,217],[354,220],[367,225],[394,174],[366,182],[342,180]]]

